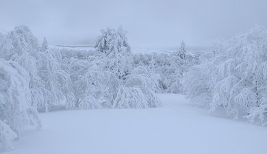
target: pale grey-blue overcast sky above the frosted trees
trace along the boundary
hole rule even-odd
[[[267,0],[0,0],[0,31],[27,25],[49,44],[93,44],[100,29],[123,28],[132,47],[207,46],[267,26]]]

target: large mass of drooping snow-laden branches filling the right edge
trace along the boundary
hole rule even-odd
[[[188,97],[210,110],[223,107],[235,118],[245,112],[251,121],[266,122],[266,54],[265,27],[239,34],[184,75]]]

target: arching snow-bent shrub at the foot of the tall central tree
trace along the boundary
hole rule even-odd
[[[161,102],[155,95],[157,82],[149,77],[149,71],[144,67],[134,68],[127,77],[125,84],[118,88],[113,107],[147,108],[159,107]]]

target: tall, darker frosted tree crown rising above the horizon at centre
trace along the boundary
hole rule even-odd
[[[96,40],[94,47],[105,55],[106,68],[114,72],[118,79],[125,79],[131,72],[133,60],[131,48],[125,36],[126,31],[121,27],[102,29],[101,36]]]

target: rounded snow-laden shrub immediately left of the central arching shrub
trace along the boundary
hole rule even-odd
[[[105,70],[103,62],[96,60],[94,64],[88,66],[87,72],[79,76],[79,79],[74,83],[77,104],[79,105],[84,99],[94,97],[99,100],[99,106],[110,107],[119,83],[117,76],[111,71]],[[95,102],[92,101],[92,103]]]

